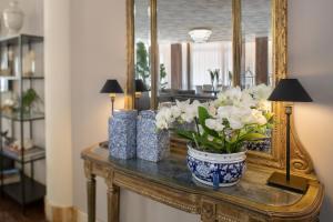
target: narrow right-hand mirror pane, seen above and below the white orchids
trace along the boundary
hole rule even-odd
[[[241,87],[273,85],[272,0],[242,0]],[[268,138],[250,142],[248,149],[271,153],[271,130]]]

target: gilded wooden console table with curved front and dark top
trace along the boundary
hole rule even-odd
[[[108,221],[119,222],[120,188],[189,213],[201,214],[203,222],[317,221],[323,186],[310,181],[305,194],[265,184],[271,171],[249,165],[241,182],[213,190],[198,184],[185,160],[172,155],[159,163],[143,160],[109,159],[105,149],[93,147],[82,152],[88,179],[89,222],[95,221],[95,176],[108,185]]]

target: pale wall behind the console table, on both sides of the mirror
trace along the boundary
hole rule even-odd
[[[311,153],[316,172],[326,186],[322,221],[333,218],[333,179],[330,164],[333,147],[333,49],[332,0],[290,2],[290,72],[297,73],[313,99],[296,105],[297,132]],[[125,80],[124,1],[72,1],[72,137],[74,205],[85,211],[85,180],[80,152],[107,138],[109,99],[99,94],[108,78]],[[118,100],[117,107],[122,107]],[[98,218],[105,221],[105,186],[98,181]],[[331,211],[330,211],[331,210]],[[121,191],[122,222],[200,221],[137,194]]]

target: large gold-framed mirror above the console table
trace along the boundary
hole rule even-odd
[[[195,2],[198,3],[196,8],[193,6]],[[254,9],[262,11],[255,11]],[[221,10],[222,16],[219,10]],[[182,17],[180,17],[180,14],[182,14]],[[200,17],[200,14],[203,16]],[[205,20],[200,18],[215,22],[208,26],[204,22]],[[251,22],[258,22],[260,28],[252,26]],[[250,70],[251,72],[251,65],[246,65],[246,63],[253,63],[251,57],[255,57],[256,60],[260,61],[255,65],[255,73],[258,74],[253,82],[271,83],[274,85],[280,79],[286,78],[287,0],[215,0],[210,3],[206,1],[186,2],[186,0],[127,0],[127,26],[128,81],[125,104],[128,109],[135,108],[135,101],[139,101],[138,97],[135,97],[138,69],[148,70],[150,74],[147,81],[150,83],[148,98],[150,99],[151,109],[158,109],[161,98],[159,95],[161,85],[165,82],[172,87],[176,85],[179,88],[183,87],[184,90],[188,91],[192,90],[191,87],[193,88],[194,84],[192,83],[191,85],[190,81],[193,82],[193,80],[191,80],[193,77],[191,73],[194,71],[189,70],[193,69],[191,67],[191,63],[194,61],[192,59],[194,57],[193,54],[195,54],[198,50],[202,50],[199,46],[190,47],[189,41],[194,41],[193,37],[190,36],[193,29],[213,32],[211,33],[211,39],[214,40],[215,46],[219,46],[221,49],[223,48],[224,57],[232,61],[229,61],[229,63],[224,62],[224,74],[222,79],[224,84],[230,82],[230,84],[233,85],[243,84],[244,87],[249,83],[246,83],[246,71]],[[264,34],[258,34],[261,32]],[[174,33],[181,33],[179,37],[181,36],[182,38],[178,39],[178,36],[174,36]],[[251,34],[254,34],[254,40]],[[252,43],[248,42],[248,37],[249,39],[252,38]],[[169,39],[170,44],[170,48],[168,47],[167,50],[163,49],[162,46],[165,39]],[[254,53],[253,50],[251,51],[253,41],[256,46]],[[261,48],[258,46],[261,46]],[[147,61],[143,65],[140,64],[141,67],[138,67],[138,61],[142,52],[143,54],[145,53],[143,58],[145,57]],[[176,61],[165,61],[163,53],[170,54],[170,60],[176,57],[191,58],[192,60],[186,59],[185,62],[182,61],[178,63]],[[203,59],[199,57],[198,60]],[[168,62],[173,62],[175,65],[168,68],[168,65],[165,65]],[[259,65],[259,63],[264,63],[264,65]],[[252,70],[254,68],[252,68]],[[161,72],[184,73],[186,80],[184,81],[180,74],[175,74],[178,78],[169,79],[169,81],[164,80],[163,82],[161,81]],[[230,72],[232,72],[232,74],[230,74]],[[259,74],[260,72],[264,74]],[[140,74],[143,77],[142,73]],[[195,81],[200,82],[206,80],[199,78],[199,80]],[[272,104],[272,110],[275,113],[276,123],[272,130],[270,152],[249,151],[248,161],[270,168],[284,169],[284,108],[282,104],[274,103]],[[301,145],[293,124],[291,147],[292,170],[302,174],[311,174],[313,172],[311,158]],[[185,153],[185,141],[173,137],[171,139],[171,149],[173,152]]]

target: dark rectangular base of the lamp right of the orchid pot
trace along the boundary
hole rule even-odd
[[[307,190],[307,180],[301,176],[291,175],[290,181],[286,180],[284,173],[274,172],[268,180],[268,184],[297,193],[305,193]]]

